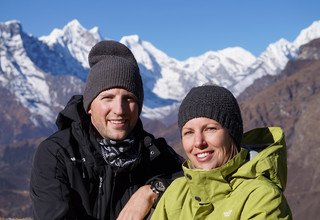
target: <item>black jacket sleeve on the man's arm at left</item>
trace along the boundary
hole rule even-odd
[[[59,150],[57,143],[46,140],[34,155],[30,180],[34,219],[68,218],[70,192]]]

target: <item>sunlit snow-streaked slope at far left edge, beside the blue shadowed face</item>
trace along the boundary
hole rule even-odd
[[[54,118],[50,91],[45,82],[46,73],[39,69],[25,50],[21,25],[16,21],[6,22],[0,26],[0,82],[32,113],[35,124],[37,115],[42,115],[43,121]],[[48,99],[49,98],[49,99]],[[46,100],[43,102],[42,100]]]

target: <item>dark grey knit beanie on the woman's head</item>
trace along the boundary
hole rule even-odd
[[[182,127],[193,118],[206,117],[228,129],[237,147],[243,134],[241,112],[236,98],[224,87],[203,85],[192,88],[182,101],[178,126]]]

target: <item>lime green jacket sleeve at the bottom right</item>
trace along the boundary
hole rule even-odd
[[[292,214],[286,198],[277,186],[261,186],[250,194],[241,219],[292,219]]]

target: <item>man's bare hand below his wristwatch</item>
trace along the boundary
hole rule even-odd
[[[157,197],[150,185],[141,186],[121,210],[117,220],[144,219]]]

